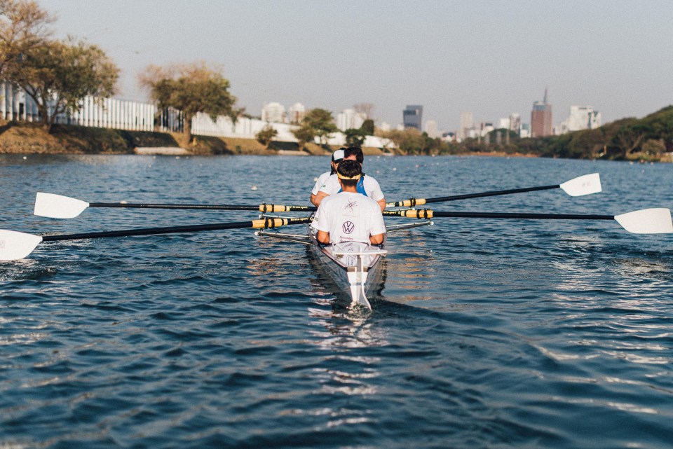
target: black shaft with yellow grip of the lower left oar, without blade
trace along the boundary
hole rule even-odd
[[[83,240],[83,239],[97,239],[104,237],[130,237],[133,235],[193,233],[205,230],[222,230],[222,229],[276,228],[278,226],[286,226],[286,225],[302,224],[310,222],[311,218],[301,218],[301,219],[268,218],[252,221],[236,221],[231,223],[213,223],[213,224],[191,225],[191,226],[168,226],[165,228],[141,228],[141,229],[111,230],[97,233],[43,235],[42,241],[55,242],[58,240]]]

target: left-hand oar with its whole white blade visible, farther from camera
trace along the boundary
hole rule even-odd
[[[54,193],[38,192],[35,196],[34,214],[48,216],[53,219],[74,219],[84,212],[87,207],[128,207],[133,209],[211,209],[211,210],[254,210],[259,212],[313,212],[313,206],[285,206],[285,205],[180,205],[180,204],[151,204],[129,202],[86,202]]]

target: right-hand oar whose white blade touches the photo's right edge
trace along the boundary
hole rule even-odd
[[[625,230],[634,234],[673,233],[670,209],[641,209],[621,215],[583,214],[519,214],[502,212],[435,212],[423,209],[383,211],[384,215],[409,216],[417,219],[451,217],[465,219],[524,219],[524,220],[616,220]]]

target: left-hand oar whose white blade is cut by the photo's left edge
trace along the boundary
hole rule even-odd
[[[142,228],[111,230],[97,233],[33,235],[19,233],[15,230],[0,230],[0,261],[13,261],[27,257],[40,242],[56,242],[58,240],[83,240],[103,237],[130,237],[132,235],[157,235],[175,233],[196,233],[204,230],[242,229],[242,228],[278,228],[294,224],[311,223],[311,217],[300,219],[259,219],[252,221],[235,221],[231,223],[213,223],[191,226],[170,226],[166,228]]]

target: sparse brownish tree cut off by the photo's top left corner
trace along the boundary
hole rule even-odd
[[[0,78],[21,64],[24,53],[43,43],[53,18],[34,1],[0,0]]]

